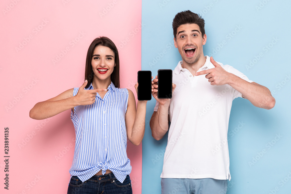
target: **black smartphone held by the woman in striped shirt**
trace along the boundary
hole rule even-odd
[[[152,72],[138,71],[137,72],[137,99],[151,100],[152,99]]]

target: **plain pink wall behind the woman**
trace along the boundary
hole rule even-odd
[[[0,8],[0,193],[66,193],[75,137],[70,110],[49,120],[33,120],[29,111],[84,82],[87,49],[102,35],[119,48],[121,88],[136,96],[141,1],[2,0]],[[9,190],[3,185],[5,127]],[[127,154],[133,193],[141,193],[141,145],[128,142]]]

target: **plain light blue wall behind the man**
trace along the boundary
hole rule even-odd
[[[282,0],[142,1],[142,22],[146,24],[142,29],[142,70],[150,70],[155,76],[158,69],[176,67],[181,56],[173,45],[172,21],[178,12],[189,9],[205,19],[204,55],[235,67],[250,80],[269,88],[276,99],[271,110],[257,108],[242,98],[233,101],[228,128],[228,194],[291,191],[290,7],[290,1]],[[155,102],[154,98],[148,102],[143,138],[145,194],[161,193],[160,175],[168,138],[166,134],[157,141],[151,136],[149,121]],[[239,122],[244,123],[243,127]],[[277,141],[276,135],[281,136]],[[263,149],[266,152],[260,156]],[[258,160],[250,165],[253,158]]]

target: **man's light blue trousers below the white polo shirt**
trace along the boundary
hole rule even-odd
[[[227,180],[162,178],[162,194],[225,194]]]

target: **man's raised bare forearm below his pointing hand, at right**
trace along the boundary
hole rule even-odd
[[[248,99],[254,106],[271,109],[275,106],[275,99],[270,90],[258,83],[249,83],[238,76],[230,76],[229,85],[242,93],[242,97]]]

